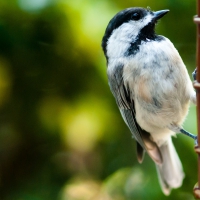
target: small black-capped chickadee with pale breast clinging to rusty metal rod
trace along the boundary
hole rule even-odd
[[[109,86],[137,142],[138,161],[147,151],[166,195],[184,178],[171,136],[181,132],[196,140],[182,128],[189,102],[196,104],[187,69],[170,40],[154,31],[168,11],[125,9],[110,20],[102,39]]]

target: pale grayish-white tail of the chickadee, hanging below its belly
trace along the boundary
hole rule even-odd
[[[172,188],[182,185],[185,175],[171,137],[160,147],[160,151],[163,163],[156,164],[159,182],[164,194],[169,195]]]

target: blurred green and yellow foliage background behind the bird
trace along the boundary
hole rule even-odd
[[[154,163],[138,164],[106,77],[105,28],[133,6],[170,9],[157,25],[195,68],[195,0],[0,1],[0,199],[193,199],[193,141],[174,144],[186,177],[165,197]],[[191,106],[184,124],[196,134]]]

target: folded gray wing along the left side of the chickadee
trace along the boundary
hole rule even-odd
[[[125,87],[123,80],[123,64],[119,64],[108,73],[109,86],[115,97],[121,115],[137,141],[137,157],[142,162],[144,150],[156,163],[162,163],[160,150],[155,142],[151,140],[150,134],[143,130],[136,121],[134,100],[131,98],[130,89]]]

